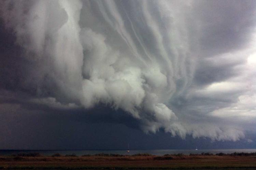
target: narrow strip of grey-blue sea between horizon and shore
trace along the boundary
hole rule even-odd
[[[31,152],[39,152],[42,155],[50,156],[55,153],[59,153],[61,155],[66,154],[75,154],[77,156],[81,155],[94,155],[98,153],[112,153],[112,154],[121,154],[121,155],[133,155],[138,153],[149,153],[152,155],[164,155],[164,154],[200,154],[202,152],[209,152],[209,153],[233,153],[233,152],[256,152],[256,149],[198,149],[198,150],[173,150],[173,149],[159,149],[159,150],[130,150],[130,152],[126,152],[126,150],[0,150],[0,155],[13,155],[17,153],[31,153]]]

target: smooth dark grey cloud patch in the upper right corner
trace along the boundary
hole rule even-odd
[[[197,1],[195,16],[201,24],[200,56],[244,48],[255,28],[255,1]]]

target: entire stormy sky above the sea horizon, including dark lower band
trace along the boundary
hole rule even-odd
[[[256,1],[0,1],[0,149],[256,147]]]

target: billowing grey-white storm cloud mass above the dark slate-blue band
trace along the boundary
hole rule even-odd
[[[181,138],[236,141],[250,130],[241,120],[256,120],[254,1],[0,6],[13,37],[1,51],[0,87],[13,103],[62,111],[103,104],[145,132]]]

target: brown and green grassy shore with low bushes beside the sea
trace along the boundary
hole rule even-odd
[[[222,155],[222,156],[220,156]],[[254,154],[0,156],[0,169],[256,169]]]

